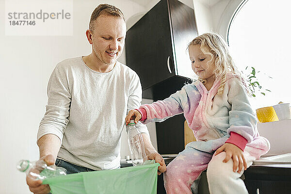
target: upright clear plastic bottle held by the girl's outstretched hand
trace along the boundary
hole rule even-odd
[[[132,164],[134,166],[145,164],[147,160],[143,136],[136,128],[133,120],[130,120],[129,124],[126,126],[126,132],[128,134],[129,151]]]

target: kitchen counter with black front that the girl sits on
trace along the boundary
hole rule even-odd
[[[166,165],[175,157],[163,156]],[[132,166],[123,162],[121,167]],[[242,179],[249,194],[287,194],[291,191],[291,153],[266,158],[254,162],[246,171]],[[198,194],[209,194],[206,170],[202,173]],[[166,194],[163,186],[163,174],[158,176],[157,194]]]

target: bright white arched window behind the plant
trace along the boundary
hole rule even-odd
[[[248,66],[247,75],[254,67],[262,89],[271,90],[255,93],[254,109],[291,102],[290,5],[289,0],[244,0],[230,22],[227,41],[236,65]]]

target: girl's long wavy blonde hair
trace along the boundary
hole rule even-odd
[[[233,76],[236,76],[242,81],[245,86],[246,91],[248,88],[243,79],[242,73],[238,70],[237,66],[234,64],[228,50],[228,45],[224,38],[217,32],[204,33],[200,36],[197,36],[192,40],[188,49],[192,45],[200,45],[200,49],[204,54],[210,54],[211,60],[208,63],[214,61],[215,70],[214,75],[215,79],[221,79],[220,86],[218,87],[217,94],[222,94],[225,84],[226,76],[230,73]],[[199,79],[199,78],[198,78]]]

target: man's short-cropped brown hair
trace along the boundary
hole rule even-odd
[[[106,16],[115,16],[115,17],[122,17],[125,21],[123,13],[115,7],[114,5],[109,4],[100,4],[98,7],[95,8],[91,15],[90,23],[89,23],[89,30],[93,32],[94,30],[94,23],[98,16],[106,15]]]

